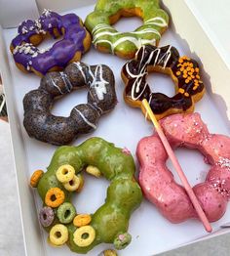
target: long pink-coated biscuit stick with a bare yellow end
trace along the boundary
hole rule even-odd
[[[167,140],[160,124],[159,124],[159,122],[157,121],[157,119],[156,119],[151,107],[149,106],[148,102],[146,101],[146,99],[144,99],[142,101],[142,105],[145,108],[147,114],[149,115],[152,123],[154,124],[154,126],[156,128],[156,131],[157,131],[157,133],[158,133],[158,135],[159,135],[159,137],[162,141],[162,144],[164,145],[170,159],[173,162],[173,167],[174,167],[176,173],[178,174],[179,179],[180,179],[185,191],[187,192],[187,194],[188,194],[188,196],[189,196],[189,198],[190,198],[190,200],[191,200],[191,202],[192,202],[192,204],[193,204],[201,222],[203,223],[206,231],[211,233],[211,231],[212,231],[211,224],[210,224],[205,212],[203,211],[195,193],[193,192],[191,186],[189,185],[188,180],[187,180],[185,174],[183,173],[183,170],[182,170],[177,158],[175,157],[173,149],[171,148],[171,146],[170,146],[170,144],[169,144],[169,142],[168,142],[168,140]]]

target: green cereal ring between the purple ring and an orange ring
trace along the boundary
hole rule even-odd
[[[70,202],[64,202],[58,207],[57,216],[62,224],[70,223],[76,215],[76,209]]]

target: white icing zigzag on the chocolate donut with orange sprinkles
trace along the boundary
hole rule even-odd
[[[145,46],[142,46],[137,52],[136,55],[137,56],[139,54],[140,51],[142,51],[142,55],[141,55],[141,59],[139,62],[139,72],[137,74],[134,74],[131,72],[130,68],[129,68],[129,64],[132,62],[129,62],[126,64],[126,71],[127,73],[134,78],[134,84],[132,86],[132,90],[131,90],[131,98],[132,100],[136,101],[140,98],[140,96],[143,94],[144,90],[147,87],[147,83],[145,82],[141,92],[140,92],[140,85],[142,82],[142,78],[144,77],[144,75],[147,74],[147,65],[150,64],[153,60],[154,60],[154,64],[153,65],[157,65],[157,64],[161,64],[163,62],[163,68],[166,68],[172,52],[171,52],[172,46],[169,46],[167,52],[159,59],[160,53],[161,53],[161,49],[160,48],[156,48],[154,51],[151,52],[151,54],[148,57],[148,60],[144,62],[144,52],[145,52]],[[156,56],[153,59],[154,54],[156,54]],[[144,63],[143,63],[144,62]],[[142,66],[142,67],[141,67]],[[141,67],[141,68],[140,68]],[[138,94],[137,97],[134,97],[135,94]]]

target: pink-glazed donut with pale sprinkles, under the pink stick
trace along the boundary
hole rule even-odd
[[[173,114],[161,126],[176,149],[198,149],[211,165],[206,181],[193,191],[210,222],[219,220],[230,198],[230,138],[210,134],[199,113]],[[176,184],[167,168],[168,154],[157,134],[143,138],[137,146],[139,184],[146,198],[172,223],[198,218],[184,188]]]

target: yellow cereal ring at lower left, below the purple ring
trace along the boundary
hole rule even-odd
[[[62,245],[68,240],[68,229],[62,224],[57,224],[52,227],[49,238],[54,245]]]

